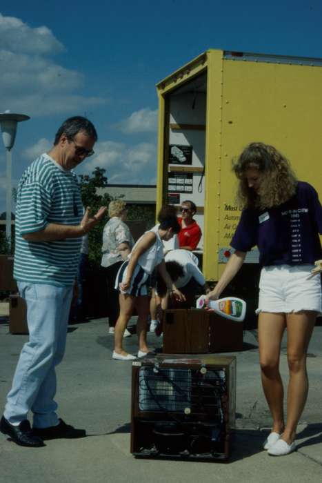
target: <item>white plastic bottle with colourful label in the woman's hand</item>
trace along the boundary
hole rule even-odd
[[[205,306],[205,295],[201,295],[197,299],[196,306],[197,308],[203,308]],[[245,319],[246,302],[237,297],[224,297],[223,299],[210,300],[208,307],[226,319],[236,320],[237,322],[243,322],[243,319]]]

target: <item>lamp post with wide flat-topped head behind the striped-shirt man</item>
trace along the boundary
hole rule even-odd
[[[6,199],[6,237],[11,248],[11,149],[17,133],[17,124],[30,119],[25,114],[14,114],[10,110],[0,112],[0,124],[3,144],[7,151],[7,199]]]

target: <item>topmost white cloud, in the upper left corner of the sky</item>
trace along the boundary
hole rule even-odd
[[[46,26],[31,28],[16,17],[0,14],[1,48],[28,54],[53,54],[65,50]]]

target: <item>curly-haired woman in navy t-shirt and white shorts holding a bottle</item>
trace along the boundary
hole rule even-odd
[[[288,455],[296,448],[296,426],[308,395],[306,353],[321,313],[321,279],[315,275],[314,262],[321,259],[322,208],[316,190],[296,180],[287,159],[273,146],[249,144],[233,169],[243,208],[231,242],[235,252],[206,300],[220,297],[246,253],[257,246],[263,267],[256,310],[261,380],[273,420],[263,447],[270,455]],[[285,328],[290,376],[286,423],[279,373]]]

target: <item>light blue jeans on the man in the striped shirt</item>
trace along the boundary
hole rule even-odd
[[[3,415],[17,424],[31,410],[34,427],[55,426],[55,366],[65,352],[72,286],[18,282],[18,288],[27,304],[29,342],[22,348]]]

